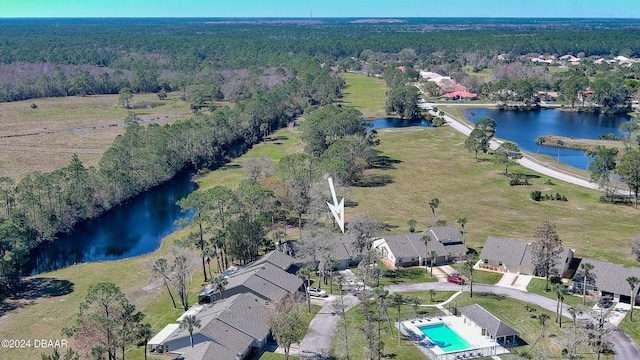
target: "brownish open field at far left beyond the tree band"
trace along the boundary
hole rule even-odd
[[[116,136],[124,133],[124,127],[118,124],[124,122],[128,111],[161,125],[191,115],[189,104],[178,100],[177,93],[164,101],[155,94],[136,94],[132,107],[127,110],[118,106],[118,95],[1,103],[0,176],[17,181],[33,171],[50,172],[67,166],[74,153],[85,166],[97,165]],[[159,119],[165,116],[172,117]]]

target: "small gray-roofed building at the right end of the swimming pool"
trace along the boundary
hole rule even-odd
[[[517,346],[520,333],[511,326],[498,319],[478,304],[460,309],[464,323],[477,329],[481,335],[495,340],[498,344],[509,347]]]

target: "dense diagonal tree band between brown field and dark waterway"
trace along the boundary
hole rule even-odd
[[[255,94],[233,109],[196,114],[172,125],[138,125],[104,153],[97,168],[74,156],[65,168],[33,173],[17,184],[0,178],[0,297],[19,280],[29,249],[78,221],[95,217],[187,167],[211,168],[228,160],[234,148],[247,148],[292,121],[308,106],[326,105],[343,80],[307,60],[289,71],[298,77],[269,92]]]

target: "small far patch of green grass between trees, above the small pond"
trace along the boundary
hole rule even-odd
[[[362,74],[344,73],[342,76],[347,86],[342,91],[344,97],[341,103],[360,110],[365,119],[388,116],[384,110],[387,104],[387,85],[384,80]]]

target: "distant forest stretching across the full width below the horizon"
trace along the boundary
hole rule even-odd
[[[411,49],[425,67],[461,54],[640,56],[640,21],[410,19],[397,23],[49,19],[0,21],[0,101],[217,86],[230,69],[277,68],[298,55],[325,65]],[[402,59],[398,59],[402,60]]]

